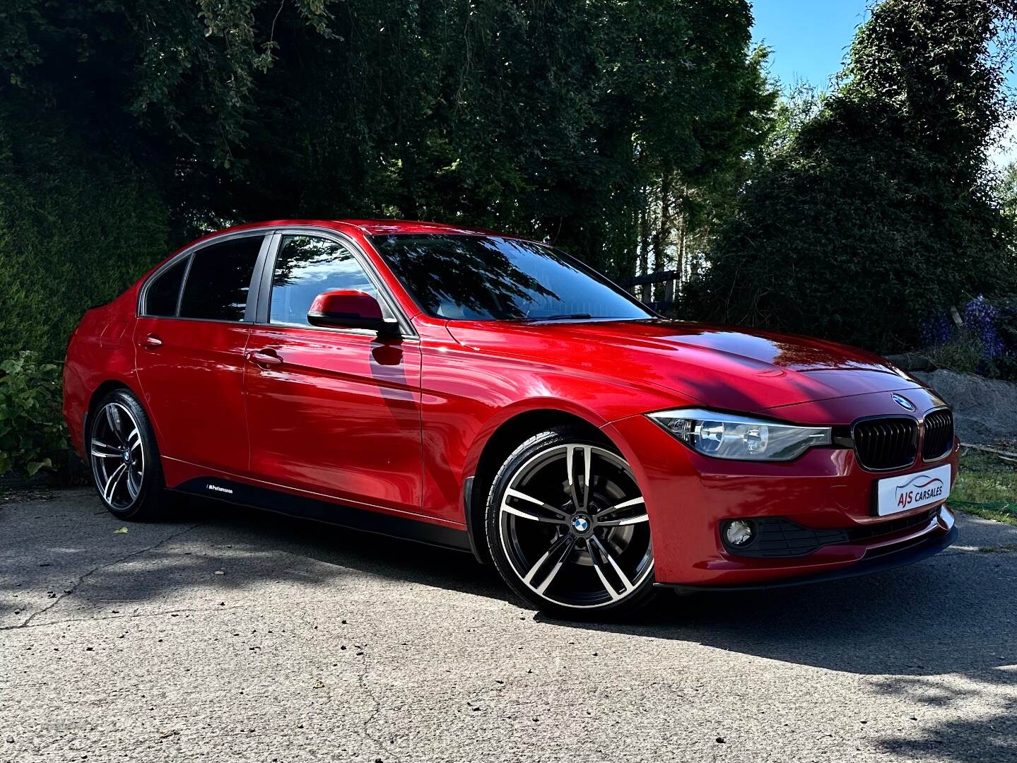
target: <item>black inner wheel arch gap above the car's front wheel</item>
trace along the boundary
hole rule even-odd
[[[519,445],[540,432],[555,427],[575,427],[592,439],[613,442],[594,423],[593,417],[559,407],[536,407],[517,410],[503,419],[490,435],[478,444],[472,467],[467,471],[463,485],[463,510],[470,549],[482,564],[490,563],[487,544],[484,543],[484,513],[491,482],[497,470]]]

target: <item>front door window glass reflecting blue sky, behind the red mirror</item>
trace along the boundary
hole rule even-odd
[[[310,325],[314,298],[333,289],[355,289],[377,299],[377,290],[353,253],[315,236],[285,236],[272,274],[271,323]]]

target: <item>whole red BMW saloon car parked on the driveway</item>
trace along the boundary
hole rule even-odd
[[[957,534],[953,418],[920,382],[666,320],[485,231],[206,236],[84,315],[64,395],[118,517],[191,494],[410,536],[559,616],[883,570]]]

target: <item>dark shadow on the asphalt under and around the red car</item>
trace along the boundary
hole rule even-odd
[[[299,580],[321,586],[326,595],[356,570],[510,598],[493,569],[468,554],[210,501],[189,502],[171,523],[132,524],[117,546],[111,541],[117,521],[94,496],[75,495],[13,511],[0,507],[0,552],[10,559],[0,568],[0,607],[5,614],[24,610],[13,622],[4,620],[2,630],[47,622],[51,616],[42,616],[84,582],[89,601],[124,600],[125,592],[130,600],[144,600],[206,582],[223,565],[230,567],[224,584],[237,587]],[[960,521],[961,545],[966,532],[990,539],[999,533],[999,550],[962,546],[894,571],[801,588],[690,596],[662,591],[652,614],[627,623],[534,619],[569,629],[573,638],[577,630],[620,633],[704,644],[731,652],[732,659],[755,655],[855,674],[868,677],[877,692],[930,708],[949,708],[980,693],[991,708],[984,717],[956,717],[923,726],[919,741],[887,738],[880,744],[899,755],[965,763],[1017,760],[1017,676],[1006,670],[1017,664],[1017,553],[1005,550],[1015,528]],[[184,538],[187,544],[180,543]],[[127,582],[121,574],[98,574],[142,555],[145,564]],[[47,598],[25,607],[26,592],[39,595],[45,586]]]

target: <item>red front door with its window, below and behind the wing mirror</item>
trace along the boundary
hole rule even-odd
[[[328,290],[359,290],[390,308],[339,238],[293,233],[276,242],[262,279],[267,305],[247,344],[251,471],[351,505],[418,512],[419,343],[311,326],[311,302]]]

